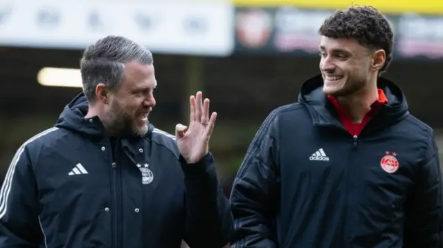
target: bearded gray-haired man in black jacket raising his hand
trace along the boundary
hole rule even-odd
[[[152,54],[125,37],[89,46],[83,93],[26,141],[0,191],[0,247],[192,248],[228,244],[228,200],[208,142],[216,113],[198,92],[175,135],[148,122]]]

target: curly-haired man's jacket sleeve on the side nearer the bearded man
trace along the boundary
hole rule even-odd
[[[278,247],[275,238],[275,209],[280,201],[277,140],[278,117],[273,111],[255,134],[233,183],[231,247]]]

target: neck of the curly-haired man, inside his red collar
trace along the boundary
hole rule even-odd
[[[363,117],[371,109],[371,105],[379,99],[377,84],[368,84],[367,87],[343,97],[337,97],[338,103],[350,115],[352,122],[361,123]]]

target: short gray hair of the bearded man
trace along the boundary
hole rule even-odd
[[[129,61],[154,62],[150,50],[126,37],[109,35],[88,46],[80,60],[83,93],[88,102],[96,101],[96,87],[100,83],[114,92],[118,90],[124,79],[125,63]]]

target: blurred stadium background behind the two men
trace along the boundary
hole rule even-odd
[[[266,115],[295,102],[318,73],[320,23],[352,2],[379,8],[395,30],[385,75],[410,112],[435,128],[443,151],[443,1],[1,0],[0,178],[18,147],[55,124],[80,93],[82,50],[124,35],[154,53],[157,105],[150,121],[174,133],[197,90],[219,113],[211,150],[226,194]]]

